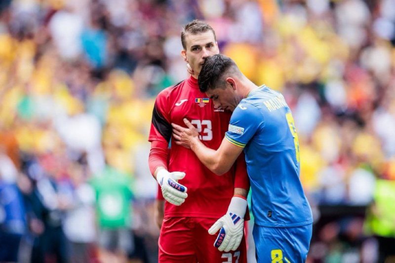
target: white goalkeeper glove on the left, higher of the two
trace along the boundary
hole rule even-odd
[[[178,183],[178,180],[183,179],[185,173],[172,172],[169,173],[165,169],[161,169],[157,173],[157,181],[162,189],[163,198],[173,204],[181,205],[188,197],[187,188]]]

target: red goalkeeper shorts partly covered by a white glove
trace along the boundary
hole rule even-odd
[[[207,231],[217,220],[208,218],[165,218],[160,228],[159,263],[246,263],[247,248],[241,240],[236,251],[221,252],[214,247],[217,234]]]

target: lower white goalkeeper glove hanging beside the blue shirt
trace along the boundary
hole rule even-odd
[[[210,235],[220,230],[214,242],[214,247],[218,248],[219,251],[229,252],[236,250],[240,245],[244,233],[246,209],[247,200],[237,196],[232,197],[228,212],[208,229]]]

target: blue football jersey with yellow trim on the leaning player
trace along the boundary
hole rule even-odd
[[[299,179],[299,142],[281,93],[253,90],[232,114],[226,139],[244,148],[255,224],[308,225],[312,211]]]

